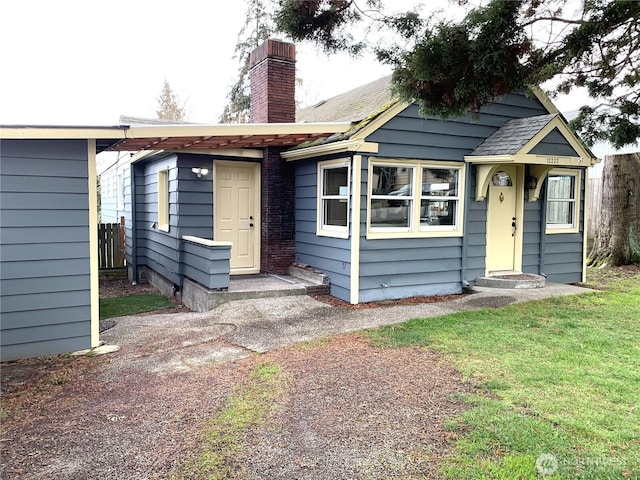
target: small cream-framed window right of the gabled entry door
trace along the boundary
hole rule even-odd
[[[547,233],[574,233],[579,229],[580,172],[552,170],[547,176]]]

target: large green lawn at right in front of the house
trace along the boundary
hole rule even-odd
[[[445,352],[480,386],[464,397],[470,410],[446,425],[457,438],[446,477],[640,478],[638,276],[605,292],[416,319],[371,335]]]

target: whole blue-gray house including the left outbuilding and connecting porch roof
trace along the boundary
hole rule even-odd
[[[492,275],[583,280],[597,159],[538,89],[443,121],[384,78],[296,112],[294,46],[268,40],[251,66],[251,124],[0,129],[3,361],[99,342],[103,150],[127,152],[101,179],[131,280],[187,304],[292,264],[351,303]]]

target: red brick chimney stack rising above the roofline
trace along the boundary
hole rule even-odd
[[[296,121],[296,47],[269,39],[249,57],[251,123]]]

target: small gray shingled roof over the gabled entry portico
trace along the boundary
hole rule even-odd
[[[556,116],[556,113],[551,113],[538,115],[537,117],[508,120],[489,138],[478,145],[471,152],[471,155],[515,155]]]

